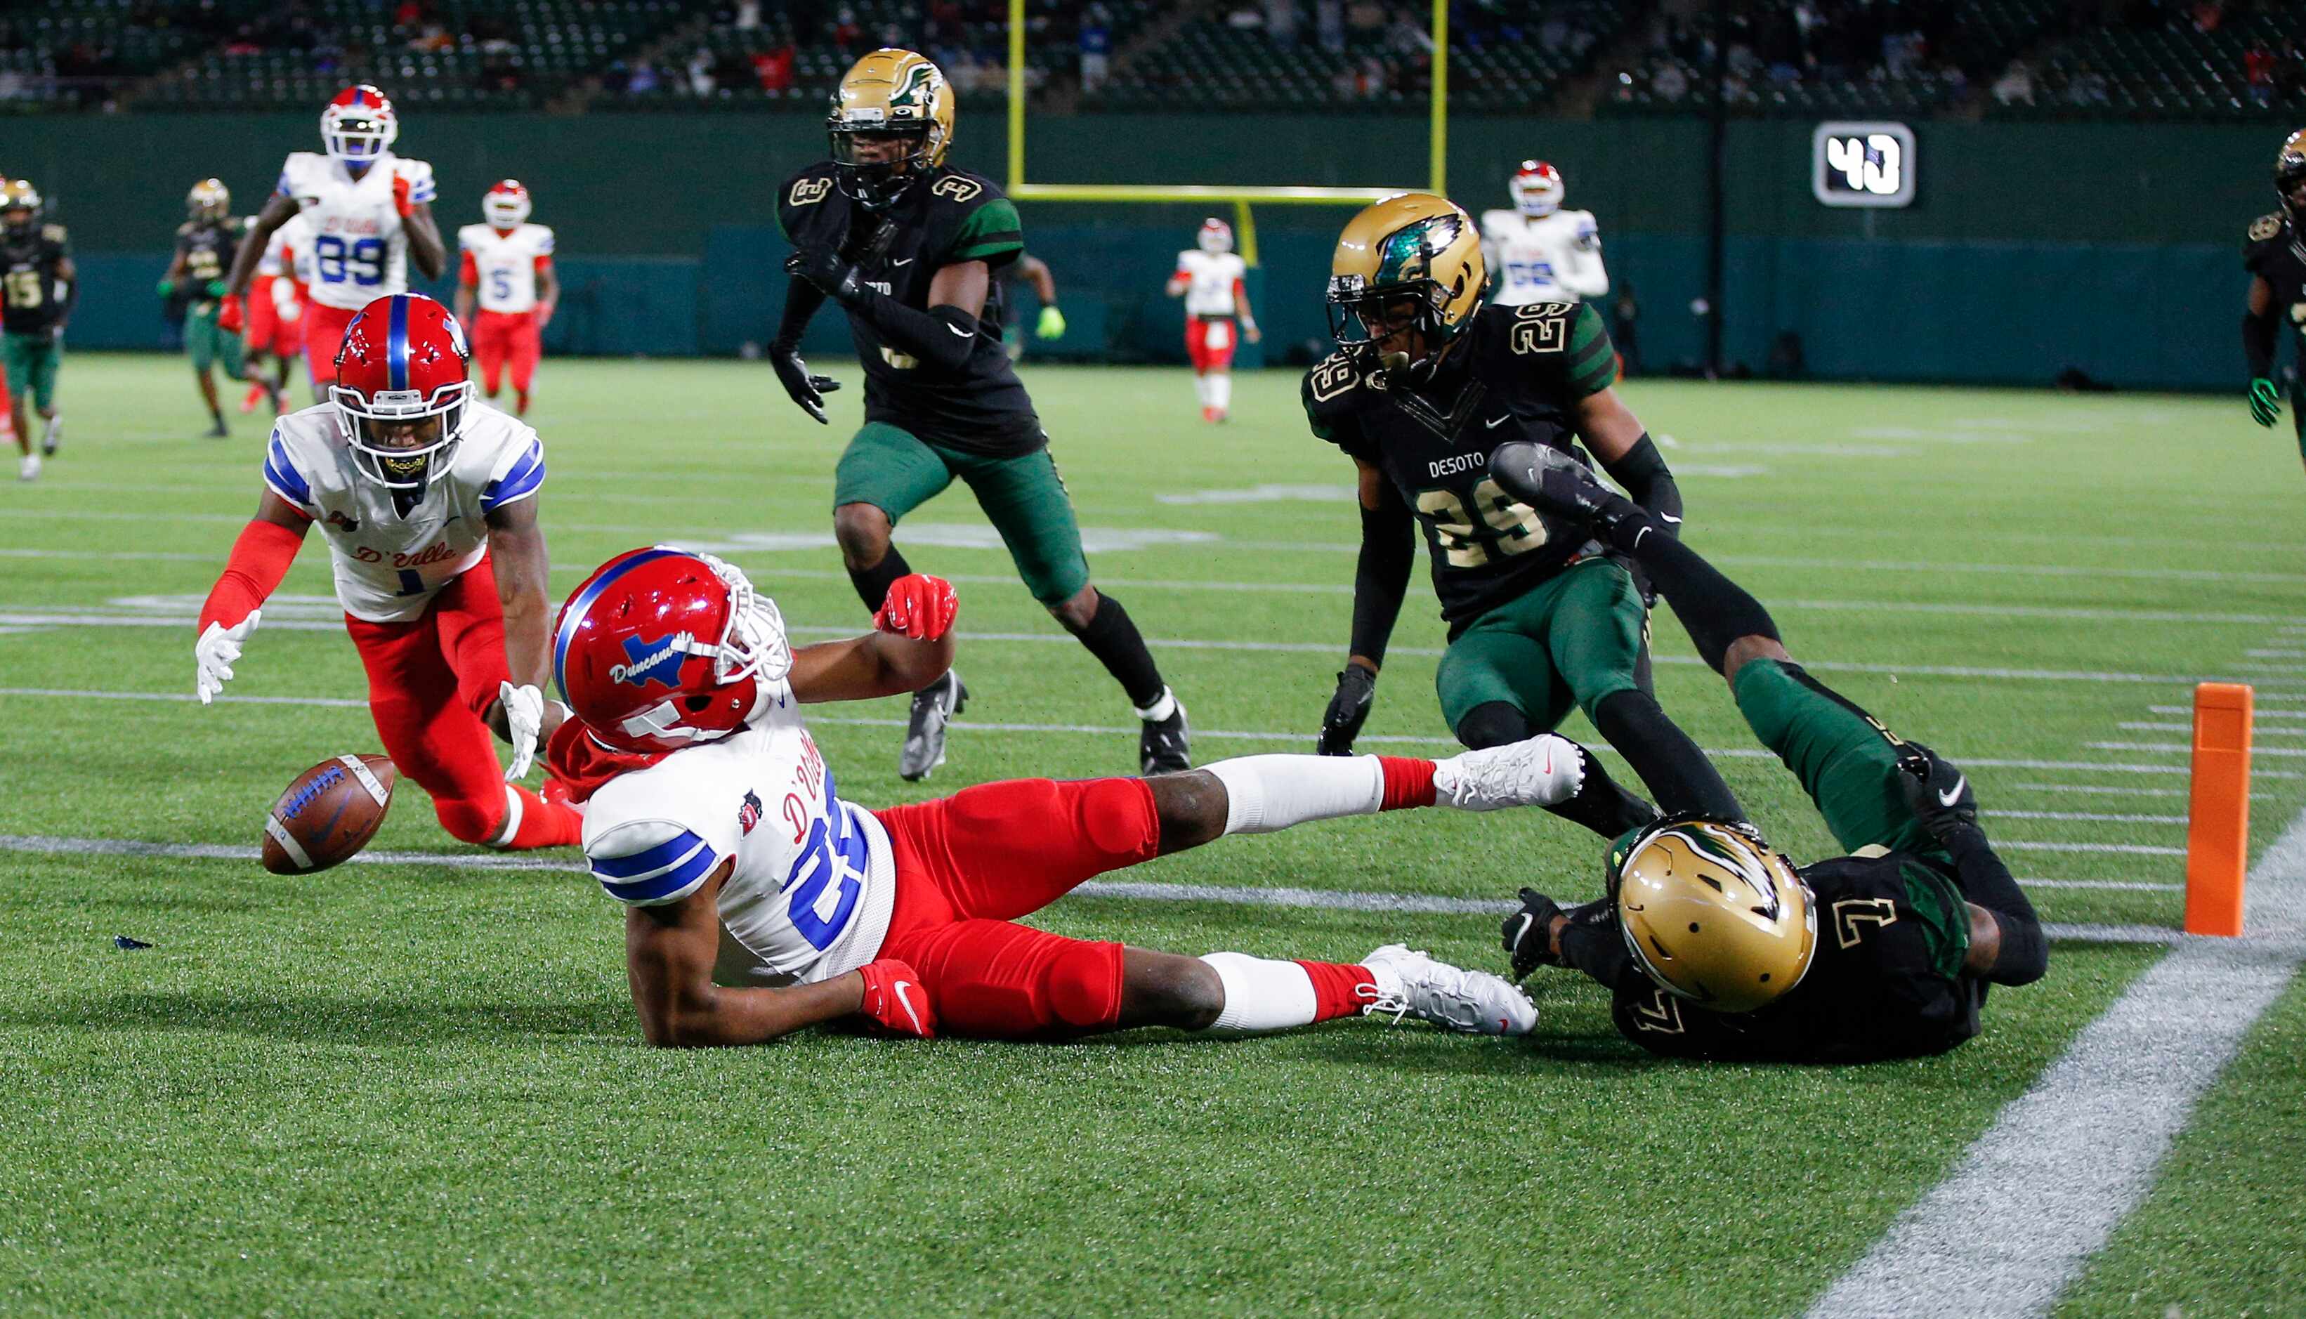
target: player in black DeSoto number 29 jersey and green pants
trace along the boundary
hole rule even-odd
[[[1425,528],[1448,650],[1434,685],[1467,747],[1520,743],[1584,708],[1665,809],[1736,816],[1736,798],[1640,678],[1646,609],[1635,576],[1584,535],[1550,528],[1487,473],[1499,440],[1582,438],[1665,519],[1681,491],[1610,387],[1600,316],[1575,302],[1485,307],[1474,221],[1446,198],[1400,194],[1347,226],[1328,281],[1340,351],[1305,374],[1312,431],[1361,477],[1354,632],[1317,747],[1354,747]],[[1591,775],[1557,814],[1605,837],[1656,812]]]

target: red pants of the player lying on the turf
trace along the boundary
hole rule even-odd
[[[941,1031],[1015,1040],[1121,1022],[1118,943],[1012,918],[1160,851],[1144,779],[1012,779],[874,816],[897,853],[881,957],[920,971]]]

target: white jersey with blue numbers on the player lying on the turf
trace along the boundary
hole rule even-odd
[[[586,802],[583,856],[630,906],[680,902],[736,858],[713,980],[814,985],[881,952],[897,862],[881,821],[832,793],[791,687],[763,692],[761,710],[729,738],[609,779]]]

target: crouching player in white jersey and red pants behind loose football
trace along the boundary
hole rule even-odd
[[[440,828],[500,849],[574,844],[576,812],[517,782],[565,715],[542,687],[544,445],[473,399],[464,327],[422,293],[360,311],[341,367],[327,404],[272,427],[263,503],[201,606],[194,689],[203,706],[224,689],[318,523],[376,733]],[[505,772],[491,729],[512,743]]]

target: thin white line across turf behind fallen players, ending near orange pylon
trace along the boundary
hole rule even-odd
[[[0,851],[39,856],[143,856],[161,860],[256,860],[254,846],[134,842],[108,837],[0,835]],[[549,869],[590,874],[581,862],[544,856],[464,853],[464,851],[364,851],[351,865],[440,865],[447,869]],[[2064,883],[2087,881],[2022,881]],[[1070,897],[1141,897],[1153,902],[1227,902],[1236,906],[1314,906],[1328,911],[1411,911],[1439,915],[1504,915],[1520,911],[1517,902],[1497,897],[1434,897],[1425,892],[1363,892],[1344,888],[1224,888],[1213,883],[1153,883],[1135,879],[1091,879]],[[2089,939],[2098,943],[2168,943],[2177,929],[2161,925],[2043,925],[2050,939]]]

